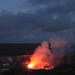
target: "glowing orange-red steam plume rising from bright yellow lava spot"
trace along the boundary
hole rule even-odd
[[[51,53],[47,42],[36,48],[34,54],[30,57],[28,68],[30,69],[53,69],[54,53]]]

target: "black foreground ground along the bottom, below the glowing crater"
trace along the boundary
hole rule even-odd
[[[73,67],[72,67],[73,66]],[[24,70],[22,68],[11,69],[3,75],[75,75],[74,64],[61,65],[53,70]]]

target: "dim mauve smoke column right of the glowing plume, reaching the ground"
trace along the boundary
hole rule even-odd
[[[69,41],[63,38],[51,38],[51,47],[55,54],[55,65],[63,63],[63,57],[66,54],[66,50],[69,47]]]

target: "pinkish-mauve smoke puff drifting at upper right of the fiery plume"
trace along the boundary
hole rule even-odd
[[[56,53],[63,54],[65,52],[65,48],[68,47],[69,43],[67,40],[62,38],[51,38],[50,39],[51,47]]]

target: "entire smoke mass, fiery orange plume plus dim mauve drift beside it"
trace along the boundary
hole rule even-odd
[[[51,43],[51,45],[50,45]],[[30,57],[30,64],[34,63],[33,69],[52,69],[62,62],[64,48],[67,42],[64,39],[50,39],[38,46]]]

